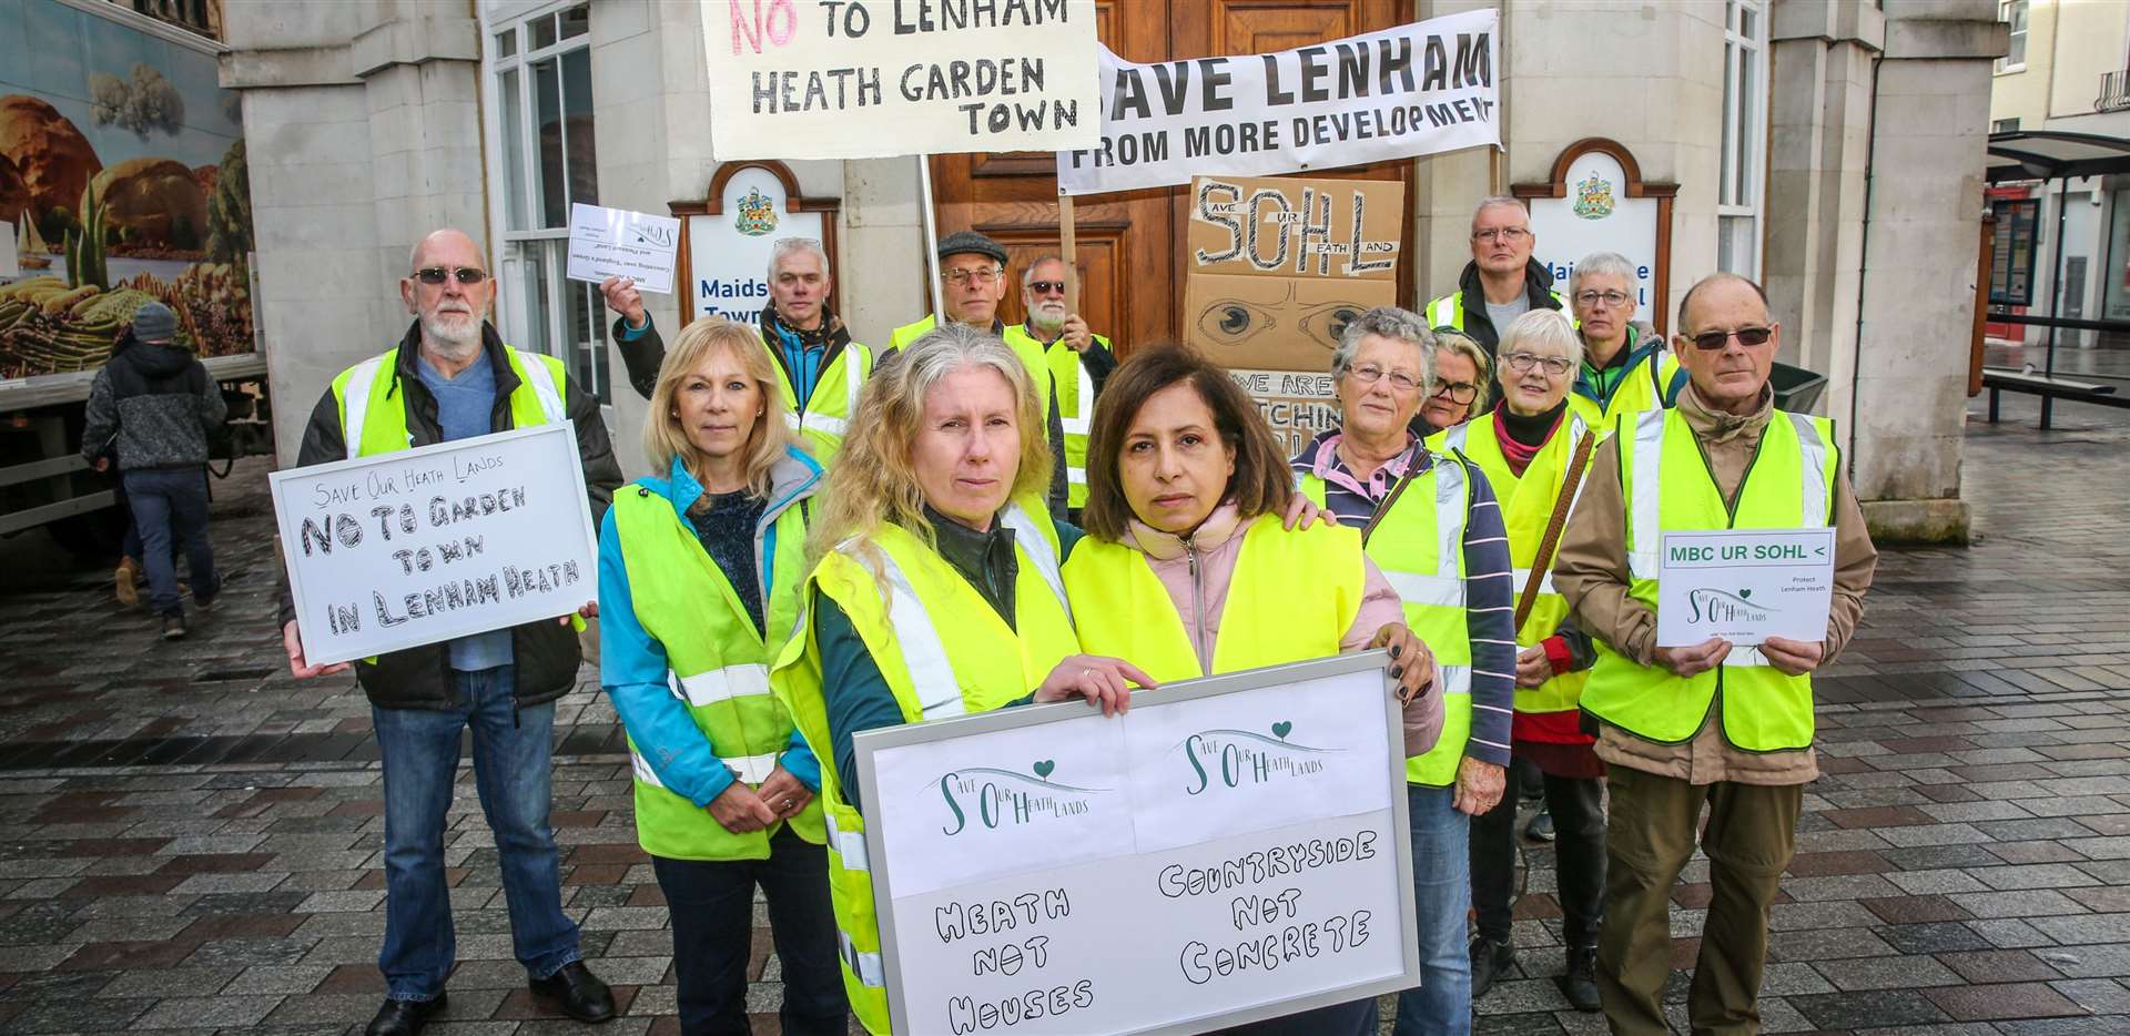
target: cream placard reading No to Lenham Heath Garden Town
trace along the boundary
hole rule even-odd
[[[701,0],[720,160],[1095,143],[1095,0]]]

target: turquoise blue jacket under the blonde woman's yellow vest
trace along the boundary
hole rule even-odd
[[[769,588],[790,584],[797,588],[805,571],[775,571],[775,520],[799,501],[820,488],[822,471],[805,452],[790,448],[777,465],[769,488],[769,507],[754,531],[756,565],[763,571],[763,599]],[[635,482],[673,505],[673,514],[688,520],[688,507],[703,497],[703,486],[688,469],[673,458],[667,477],[645,477]],[[705,595],[709,590],[705,588]],[[769,631],[769,650],[780,646],[777,631]],[[652,765],[658,780],[675,795],[686,795],[697,806],[709,806],[733,787],[733,770],[709,748],[709,740],[688,716],[688,706],[673,695],[667,682],[669,665],[665,646],[652,637],[637,620],[635,599],[628,593],[628,565],[622,563],[622,539],[613,527],[613,512],[607,512],[599,527],[599,684],[613,699],[613,712],[622,716],[622,727],[637,742],[637,752]],[[805,746],[799,731],[792,731],[790,746],[777,759],[801,784],[820,791],[820,761]]]

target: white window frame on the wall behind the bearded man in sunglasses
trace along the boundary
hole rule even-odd
[[[571,350],[575,347],[575,335],[573,328],[569,326],[569,296],[564,292],[584,290],[584,286],[562,277],[560,262],[550,260],[547,269],[543,271],[545,273],[543,279],[547,286],[547,313],[543,320],[545,328],[537,328],[535,324],[539,324],[541,320],[535,313],[532,290],[526,288],[526,271],[522,258],[515,256],[524,245],[569,241],[569,226],[535,228],[535,230],[511,228],[509,224],[511,177],[507,173],[507,162],[511,149],[515,149],[515,153],[524,162],[524,168],[520,171],[518,177],[520,179],[518,190],[522,192],[522,198],[518,198],[518,203],[524,205],[528,222],[532,224],[543,222],[541,220],[543,200],[539,196],[539,171],[535,168],[539,162],[539,126],[537,126],[539,117],[537,117],[532,66],[547,58],[562,58],[564,53],[573,53],[579,49],[590,51],[592,34],[590,30],[586,30],[579,36],[556,38],[547,47],[530,49],[532,34],[528,26],[543,17],[554,17],[579,4],[586,4],[586,0],[484,0],[479,4],[481,132],[488,139],[486,147],[488,168],[484,171],[484,177],[488,181],[488,192],[486,192],[488,226],[492,228],[494,237],[496,279],[501,281],[503,288],[496,307],[496,326],[503,333],[503,339],[513,345],[524,345],[530,350],[535,347],[535,343],[539,343],[535,352],[545,352],[562,360],[573,377],[577,373],[577,356],[571,356]],[[596,11],[599,4],[586,4],[586,6],[590,11]],[[496,47],[496,34],[505,30],[515,32],[513,36],[515,47],[513,53],[507,58],[501,55]],[[511,141],[511,147],[505,147],[505,126],[503,126],[501,81],[505,72],[518,72],[520,119],[518,119],[518,141]],[[558,72],[560,72],[560,62],[558,62]],[[562,122],[562,153],[564,156],[569,153],[567,117]],[[564,185],[564,196],[567,196],[567,185]],[[550,252],[560,254],[564,249],[550,249]],[[535,330],[543,330],[543,335],[537,335]],[[607,341],[605,307],[592,309],[592,335],[596,337],[594,345],[596,354],[601,358],[609,358],[613,343]],[[601,394],[601,390],[605,390],[611,407],[613,386],[609,384],[611,382],[607,369],[609,365],[601,362],[592,367],[596,384],[584,386],[584,390],[592,392],[594,396]]]

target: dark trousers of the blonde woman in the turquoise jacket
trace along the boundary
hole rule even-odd
[[[769,859],[652,857],[652,870],[673,917],[682,1036],[750,1032],[756,885],[769,900],[769,936],[784,968],[784,1036],[843,1036],[850,1004],[837,966],[826,848],[784,827],[769,840]]]

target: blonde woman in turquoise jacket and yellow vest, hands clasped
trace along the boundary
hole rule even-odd
[[[697,320],[650,392],[658,477],[599,535],[601,684],[628,731],[637,842],[673,914],[684,1034],[748,1032],[754,887],[784,968],[784,1032],[841,1034],[820,763],[769,693],[799,622],[820,465],[792,446],[754,330]]]

